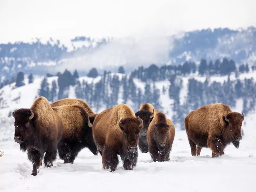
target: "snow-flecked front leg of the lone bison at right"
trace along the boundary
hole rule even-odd
[[[217,136],[208,136],[207,146],[212,149],[212,157],[224,155],[224,147],[221,142]]]

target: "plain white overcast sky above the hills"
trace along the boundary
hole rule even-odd
[[[0,43],[256,26],[256,0],[1,0]]]

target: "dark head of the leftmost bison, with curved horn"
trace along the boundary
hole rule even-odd
[[[12,116],[15,119],[14,141],[20,144],[21,149],[26,150],[22,148],[22,144],[25,144],[34,133],[34,121],[37,114],[30,109],[22,108],[12,112]]]

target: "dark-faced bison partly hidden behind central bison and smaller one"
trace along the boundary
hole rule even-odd
[[[147,141],[147,131],[150,122],[154,117],[154,107],[150,103],[144,103],[140,106],[139,111],[135,113],[135,116],[139,116],[143,121],[143,126],[140,129],[139,138],[139,149],[142,153],[148,153],[148,141]]]

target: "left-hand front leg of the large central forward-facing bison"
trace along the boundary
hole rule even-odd
[[[117,157],[117,153],[113,149],[105,146],[102,152],[102,158],[103,164],[105,165],[106,169],[110,169],[110,172],[116,170],[119,160]]]

